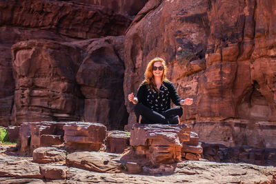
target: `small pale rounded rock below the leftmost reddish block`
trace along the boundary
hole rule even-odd
[[[66,152],[55,147],[39,147],[32,152],[35,163],[55,163],[65,161]]]

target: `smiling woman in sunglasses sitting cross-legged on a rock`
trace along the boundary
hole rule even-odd
[[[170,108],[170,99],[175,105],[191,105],[193,99],[181,99],[174,85],[166,78],[166,62],[156,57],[146,68],[145,79],[139,86],[137,96],[128,94],[135,105],[139,123],[177,124],[183,114],[181,107]]]

